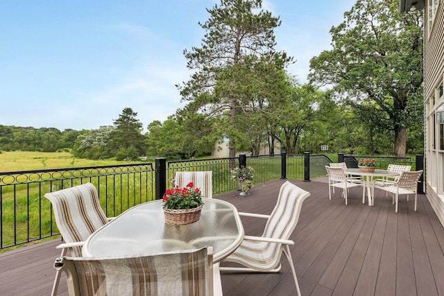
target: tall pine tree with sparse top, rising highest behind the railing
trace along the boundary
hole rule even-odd
[[[262,10],[262,0],[221,0],[207,12],[210,19],[199,23],[207,32],[202,47],[184,51],[187,67],[195,72],[178,85],[182,101],[189,101],[180,114],[200,114],[212,121],[212,132],[230,139],[229,156],[234,157],[237,144],[252,143],[264,134],[266,122],[258,122],[264,117],[257,115],[264,112],[266,99],[279,88],[276,81],[282,81],[282,69],[292,59],[275,51],[273,30],[280,20]],[[202,122],[199,116],[184,118]]]

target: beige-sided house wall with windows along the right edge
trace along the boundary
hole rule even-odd
[[[425,186],[427,199],[444,225],[444,125],[435,119],[436,109],[444,103],[444,1],[440,0],[429,28],[431,1],[425,1],[424,10]]]

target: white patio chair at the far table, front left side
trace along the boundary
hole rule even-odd
[[[347,177],[344,169],[340,167],[325,166],[328,175],[328,196],[332,199],[332,188],[334,193],[334,187],[343,189],[342,196],[345,198],[345,204],[348,204],[347,195],[348,189],[352,187],[362,186],[362,203],[366,202],[366,191],[364,182],[356,182],[353,177]]]

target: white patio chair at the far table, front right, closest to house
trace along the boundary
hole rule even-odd
[[[398,180],[391,181],[391,180],[385,180],[385,179],[376,179],[373,181],[373,188],[372,191],[375,191],[375,183],[376,182],[385,182],[385,186],[378,187],[381,190],[384,190],[386,192],[391,193],[392,195],[392,203],[396,204],[395,206],[395,212],[398,213],[398,199],[399,195],[407,194],[407,197],[409,194],[415,194],[415,211],[416,211],[416,199],[418,198],[418,180],[421,177],[422,170],[416,171],[416,172],[401,172],[400,176],[398,177]],[[373,194],[373,196],[375,196]],[[409,201],[407,199],[407,201]]]

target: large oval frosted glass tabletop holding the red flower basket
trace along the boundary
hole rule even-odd
[[[132,207],[89,236],[83,256],[148,255],[210,245],[217,263],[241,244],[244,227],[232,204],[212,198],[204,202],[200,219],[180,226],[164,223],[162,200]]]

